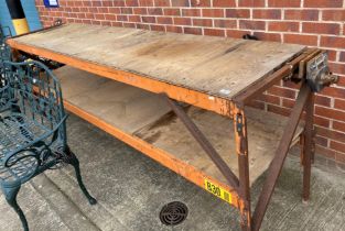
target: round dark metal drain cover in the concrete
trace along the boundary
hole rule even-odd
[[[188,208],[180,201],[173,201],[165,205],[161,212],[161,222],[165,226],[177,226],[182,223],[188,216]]]

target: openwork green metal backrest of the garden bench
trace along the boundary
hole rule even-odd
[[[7,97],[2,100],[2,108],[9,109],[11,113],[23,113],[48,130],[60,127],[54,139],[65,141],[61,85],[53,73],[35,61],[3,61],[0,66],[3,69],[2,81],[6,84],[2,87],[2,96]]]

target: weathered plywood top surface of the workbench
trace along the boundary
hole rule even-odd
[[[12,41],[225,99],[304,50],[273,42],[87,24],[66,24]]]

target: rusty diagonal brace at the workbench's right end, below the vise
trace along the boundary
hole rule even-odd
[[[254,216],[252,216],[252,230],[258,231],[260,229],[261,222],[263,220],[263,216],[266,213],[268,204],[271,199],[271,196],[273,194],[277,179],[281,173],[282,166],[284,164],[285,157],[288,155],[288,152],[290,150],[290,144],[292,142],[294,132],[299,125],[300,117],[303,112],[303,108],[310,97],[312,96],[310,87],[304,82],[301,87],[300,94],[298,96],[298,99],[295,101],[295,105],[292,109],[290,119],[288,121],[288,125],[284,130],[284,133],[280,140],[279,146],[276,151],[276,156],[273,161],[271,162],[268,175],[266,177],[257,207],[255,209]]]

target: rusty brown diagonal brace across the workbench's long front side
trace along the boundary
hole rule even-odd
[[[197,141],[197,143],[202,146],[202,148],[206,152],[209,158],[215,163],[217,168],[220,170],[223,176],[227,179],[230,186],[239,193],[239,180],[237,176],[231,172],[228,165],[224,162],[217,151],[213,147],[209,141],[205,138],[205,135],[200,131],[200,129],[195,125],[195,123],[188,118],[188,116],[177,106],[173,100],[171,100],[166,95],[163,95],[165,100],[168,101],[171,109],[175,112],[177,118],[181,119],[186,129],[191,132],[193,138]]]

